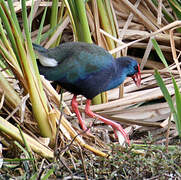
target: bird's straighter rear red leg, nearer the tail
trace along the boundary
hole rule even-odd
[[[87,129],[87,127],[86,127],[86,125],[85,125],[85,123],[84,123],[84,121],[82,119],[82,116],[81,116],[81,114],[79,112],[78,103],[76,101],[76,98],[77,98],[76,95],[74,95],[73,98],[72,98],[72,103],[71,103],[72,109],[75,112],[75,114],[76,114],[76,116],[77,116],[77,118],[79,120],[81,128],[85,131]]]

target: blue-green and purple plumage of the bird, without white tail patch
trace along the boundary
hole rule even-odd
[[[138,64],[132,58],[114,59],[95,44],[69,42],[49,50],[39,45],[34,45],[34,49],[42,56],[58,62],[55,67],[44,67],[39,63],[40,74],[87,99],[117,87],[127,76],[138,72],[135,68]]]

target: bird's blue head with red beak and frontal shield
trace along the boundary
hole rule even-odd
[[[139,87],[141,85],[141,72],[138,62],[130,57],[121,57],[121,67],[125,70],[128,77],[131,77],[135,84]]]

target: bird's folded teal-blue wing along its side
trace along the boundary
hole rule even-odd
[[[56,67],[39,67],[40,74],[49,80],[65,80],[70,83],[85,80],[96,75],[102,70],[108,69],[114,62],[110,54],[106,56],[91,54],[88,52],[72,53],[64,56]]]

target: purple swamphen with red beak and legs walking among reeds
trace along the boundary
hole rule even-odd
[[[126,77],[132,77],[135,84],[140,86],[140,67],[135,59],[128,56],[114,58],[104,48],[85,42],[65,42],[50,49],[33,43],[33,48],[39,60],[40,74],[73,94],[72,110],[83,130],[86,131],[87,127],[78,109],[78,95],[86,98],[85,113],[89,117],[112,126],[115,136],[120,132],[124,141],[130,144],[129,136],[119,123],[94,113],[90,105],[95,96],[118,87]]]

